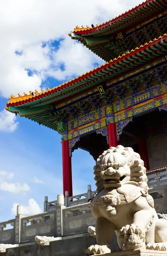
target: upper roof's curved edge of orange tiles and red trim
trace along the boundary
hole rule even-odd
[[[111,31],[112,29],[114,29],[115,31],[120,30],[125,26],[129,26],[135,22],[142,20],[145,17],[148,17],[149,15],[152,15],[159,10],[159,6],[163,7],[163,5],[167,5],[167,0],[146,0],[145,2],[130,9],[122,15],[113,18],[112,20],[109,20],[100,25],[96,24],[96,26],[94,26],[93,28],[88,26],[86,28],[83,26],[80,28],[79,26],[76,26],[73,32],[78,36],[84,36],[90,34],[99,34],[103,31]],[[71,36],[71,34],[69,35]]]

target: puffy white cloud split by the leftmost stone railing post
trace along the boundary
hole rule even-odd
[[[11,208],[11,214],[12,215],[16,215],[17,213],[17,203],[13,204],[13,207]],[[42,209],[40,208],[39,204],[37,204],[37,202],[31,198],[30,200],[28,200],[28,205],[23,207],[23,215],[35,215],[42,212]]]

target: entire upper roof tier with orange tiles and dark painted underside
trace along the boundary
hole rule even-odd
[[[167,31],[167,0],[146,0],[103,24],[80,28],[69,35],[96,55],[110,61]]]

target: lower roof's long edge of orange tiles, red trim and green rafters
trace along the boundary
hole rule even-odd
[[[134,67],[139,67],[140,65],[151,61],[159,56],[167,55],[167,34],[163,37],[154,39],[141,47],[136,47],[130,52],[119,56],[102,64],[102,66],[94,68],[82,76],[76,77],[70,81],[67,81],[58,87],[43,91],[41,93],[37,92],[37,96],[32,94],[24,96],[19,95],[19,97],[11,96],[11,99],[7,102],[7,109],[10,106],[30,106],[34,107],[36,105],[46,105],[51,102],[56,102],[60,99],[65,99],[68,96],[74,95],[79,91],[84,91],[87,88],[102,84],[110,78],[114,78],[122,73],[130,71]],[[10,109],[8,109],[10,111]],[[17,110],[16,110],[17,111]],[[11,111],[13,112],[13,111]]]

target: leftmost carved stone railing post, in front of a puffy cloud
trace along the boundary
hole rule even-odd
[[[15,217],[15,244],[20,243],[20,222],[21,218],[23,218],[23,205],[17,205],[17,215]]]

